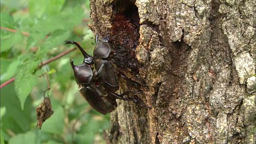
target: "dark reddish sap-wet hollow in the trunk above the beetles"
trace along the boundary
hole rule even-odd
[[[116,51],[115,61],[120,68],[138,74],[138,60],[134,50],[139,43],[140,18],[135,0],[116,0],[113,5],[111,46]]]

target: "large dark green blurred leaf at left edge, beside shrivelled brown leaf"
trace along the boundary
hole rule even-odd
[[[28,97],[24,110],[20,107],[20,101],[14,91],[14,83],[10,83],[0,90],[0,105],[6,108],[6,113],[1,119],[3,131],[12,130],[15,134],[26,132],[30,129],[30,124],[34,120],[31,118],[32,99]],[[33,109],[34,111],[34,109]],[[4,134],[4,139],[9,140],[10,136]]]

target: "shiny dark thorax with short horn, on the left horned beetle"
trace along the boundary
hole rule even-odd
[[[75,77],[76,83],[89,84],[93,76],[91,66],[86,63],[82,63],[79,66],[76,66],[74,65],[74,59],[70,60],[70,64],[74,70],[74,77]]]

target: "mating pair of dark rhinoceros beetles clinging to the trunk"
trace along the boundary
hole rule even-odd
[[[74,70],[74,77],[80,94],[92,108],[101,114],[108,114],[116,109],[116,99],[140,102],[146,108],[151,108],[146,106],[136,95],[141,92],[116,93],[119,86],[113,61],[109,58],[111,48],[107,41],[99,42],[98,35],[96,35],[96,47],[93,56],[87,54],[77,42],[65,42],[65,44],[75,44],[84,56],[82,64],[75,66],[74,59],[70,60],[70,64]],[[125,95],[128,96],[130,92],[135,94],[135,98],[124,97]]]

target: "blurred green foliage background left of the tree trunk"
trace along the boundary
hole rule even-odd
[[[38,69],[38,64],[80,42],[92,54],[94,34],[88,29],[89,0],[1,0],[0,81],[1,144],[104,144],[102,132],[110,115],[96,112],[80,95],[70,58],[82,63],[78,49]],[[54,114],[36,128],[36,107],[48,88]],[[41,76],[41,77],[39,77]]]

